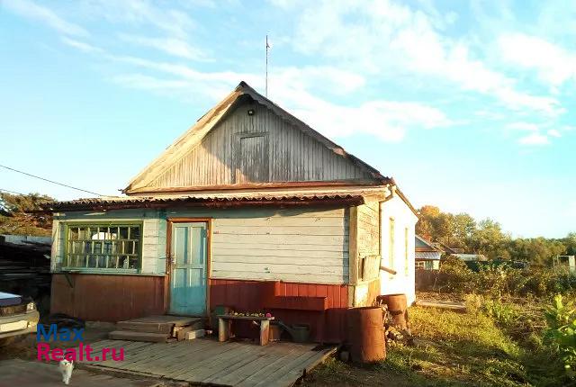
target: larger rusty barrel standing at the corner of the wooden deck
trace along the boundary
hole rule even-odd
[[[382,308],[369,306],[349,309],[347,338],[353,362],[372,363],[385,359]]]

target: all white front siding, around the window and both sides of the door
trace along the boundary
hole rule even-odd
[[[143,222],[142,274],[166,273],[166,218],[211,218],[211,278],[348,282],[348,211],[250,208],[69,212],[55,223],[90,220]],[[55,238],[57,240],[57,238]],[[61,245],[53,257],[61,262]],[[56,262],[56,260],[54,261]],[[54,266],[56,269],[56,266]]]

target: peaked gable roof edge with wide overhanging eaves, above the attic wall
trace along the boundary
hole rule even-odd
[[[202,139],[204,139],[206,135],[214,129],[218,123],[220,123],[220,121],[227,117],[229,112],[233,112],[239,103],[242,103],[242,101],[246,101],[247,99],[266,106],[267,109],[274,112],[283,120],[292,123],[298,130],[302,130],[303,133],[318,140],[326,148],[329,148],[335,155],[338,155],[338,157],[344,157],[355,164],[361,170],[365,171],[367,175],[371,176],[374,180],[374,184],[388,184],[392,182],[392,179],[381,175],[374,167],[369,166],[358,157],[347,153],[344,148],[321,135],[318,131],[313,130],[305,122],[294,117],[291,113],[286,112],[283,108],[273,103],[262,94],[257,93],[256,90],[247,85],[246,82],[242,81],[234,91],[226,96],[226,98],[216,104],[209,112],[206,112],[198,121],[196,121],[192,128],[186,130],[184,134],[176,139],[172,145],[166,148],[159,157],[146,166],[138,175],[133,177],[128,186],[122,190],[122,192],[128,194],[135,193],[139,188],[146,187],[147,184],[157,177],[157,175],[161,174],[169,166],[174,165],[174,163],[183,157],[186,152],[199,144]]]

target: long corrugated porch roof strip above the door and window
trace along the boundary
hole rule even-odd
[[[181,196],[103,196],[100,198],[76,199],[65,202],[49,202],[42,205],[45,211],[81,210],[85,208],[146,208],[148,206],[177,204],[233,204],[233,203],[283,203],[283,202],[364,202],[360,194],[313,193],[313,194],[187,194]]]

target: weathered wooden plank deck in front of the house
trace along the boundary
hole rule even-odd
[[[212,338],[171,343],[103,340],[91,347],[96,355],[104,347],[124,348],[122,362],[80,362],[103,371],[243,387],[292,386],[304,370],[311,371],[336,352],[336,346],[316,349],[315,344],[275,342],[260,347],[240,342],[219,343]]]

